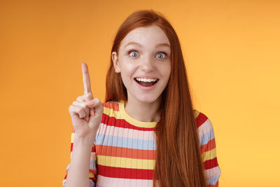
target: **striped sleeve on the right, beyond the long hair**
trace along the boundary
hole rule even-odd
[[[218,187],[221,168],[218,165],[216,141],[211,121],[204,113],[196,112],[197,132],[200,137],[200,150],[207,187]]]

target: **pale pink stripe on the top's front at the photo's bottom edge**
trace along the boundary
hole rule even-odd
[[[111,177],[98,175],[97,185],[115,186],[115,187],[136,187],[136,186],[153,187],[153,180],[120,179],[120,178],[111,178]]]

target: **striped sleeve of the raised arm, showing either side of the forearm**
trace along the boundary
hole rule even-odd
[[[72,127],[72,132],[71,132],[71,154],[70,154],[70,158],[72,156],[72,151],[73,151],[73,139],[74,139],[74,135],[75,135],[75,130]],[[96,167],[96,152],[95,152],[95,146],[94,144],[92,145],[92,151],[91,151],[91,155],[90,155],[90,171],[89,171],[89,180],[90,180],[90,187],[94,187],[95,183],[97,181],[97,167]],[[65,186],[65,182],[66,182],[66,178],[67,178],[67,174],[69,171],[69,167],[70,167],[70,163],[69,165],[66,167],[66,174],[64,176],[64,180],[62,181],[62,187]]]

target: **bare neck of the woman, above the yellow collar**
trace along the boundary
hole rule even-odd
[[[143,122],[158,122],[160,120],[161,97],[155,102],[140,102],[137,99],[127,99],[125,112],[132,118]]]

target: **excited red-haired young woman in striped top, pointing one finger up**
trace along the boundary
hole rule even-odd
[[[120,26],[104,104],[82,69],[63,186],[218,186],[213,127],[193,109],[179,39],[162,15],[137,11]]]

